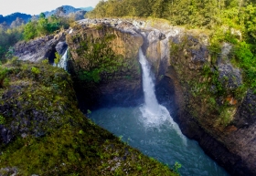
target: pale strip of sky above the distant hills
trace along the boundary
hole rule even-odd
[[[0,0],[0,15],[7,16],[15,12],[38,15],[51,11],[61,5],[87,7],[98,4],[100,0]]]

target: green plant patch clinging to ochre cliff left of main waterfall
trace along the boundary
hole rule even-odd
[[[116,56],[111,47],[114,37],[110,34],[97,38],[87,36],[80,43],[77,52],[81,59],[87,60],[86,66],[78,73],[80,80],[98,83],[101,80],[101,74],[114,73],[118,67],[122,66],[123,57]]]

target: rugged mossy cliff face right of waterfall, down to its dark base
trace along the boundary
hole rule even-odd
[[[177,83],[176,120],[229,173],[256,175],[255,94],[248,90],[243,99],[235,97],[242,77],[229,62],[230,46],[224,44],[215,62],[206,44],[200,36],[171,38],[174,69],[166,75]]]

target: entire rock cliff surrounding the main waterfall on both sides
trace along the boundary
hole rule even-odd
[[[66,41],[80,109],[138,103],[133,99],[142,95],[137,60],[142,47],[155,73],[158,99],[168,102],[175,96],[166,106],[176,109],[173,117],[187,137],[232,175],[256,175],[255,94],[242,87],[241,70],[229,60],[231,45],[223,43],[213,55],[203,31],[153,19],[81,20]],[[59,40],[53,43],[48,48]],[[27,44],[18,45],[21,59],[37,55],[37,49],[18,55]],[[40,58],[46,56],[41,53]]]

